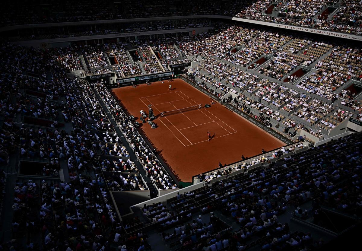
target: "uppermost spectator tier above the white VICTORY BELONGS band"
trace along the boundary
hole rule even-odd
[[[90,6],[99,6],[94,11]],[[127,6],[127,7],[125,7]],[[190,10],[188,8],[192,6]],[[248,1],[139,1],[135,4],[126,1],[123,5],[118,2],[107,3],[105,1],[93,1],[87,4],[80,4],[77,10],[70,1],[62,3],[51,1],[46,5],[34,4],[27,1],[16,6],[16,2],[7,3],[4,6],[5,16],[1,21],[2,26],[21,24],[42,24],[52,22],[80,22],[99,20],[118,20],[122,18],[140,17],[169,17],[189,15],[221,15],[236,16],[245,19],[295,25],[301,27],[331,30],[334,32],[352,33],[361,35],[361,10],[359,1],[271,1],[248,0]],[[15,9],[17,11],[15,11]],[[182,21],[187,24],[188,21]],[[192,24],[193,27],[201,25],[202,22]],[[161,21],[155,25],[155,29],[163,29],[170,26],[170,22]],[[125,27],[129,32],[130,27]],[[147,23],[140,23],[136,30],[143,29],[142,26],[149,26]],[[116,32],[119,29],[105,29],[107,33]],[[95,33],[93,31],[88,31]],[[56,31],[52,32],[56,35]]]

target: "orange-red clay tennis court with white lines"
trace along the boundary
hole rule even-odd
[[[169,91],[170,83],[172,91]],[[205,108],[212,99],[181,79],[141,84],[136,88],[114,88],[112,92],[137,118],[141,124],[138,130],[147,135],[174,174],[184,182],[215,169],[219,162],[234,163],[241,155],[251,157],[261,154],[262,148],[269,151],[285,145],[217,102]],[[155,113],[156,129],[139,119],[140,110],[148,114],[148,105],[152,105]],[[208,130],[212,135],[210,141]]]

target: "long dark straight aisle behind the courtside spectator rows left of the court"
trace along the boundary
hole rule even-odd
[[[125,137],[123,136],[123,133],[121,131],[121,129],[119,129],[117,123],[113,120],[112,115],[110,114],[108,107],[105,105],[104,101],[102,100],[101,96],[97,93],[97,91],[95,91],[94,88],[92,88],[92,91],[95,95],[95,97],[97,98],[98,102],[100,103],[100,105],[102,106],[102,109],[105,111],[106,116],[108,117],[111,125],[113,126],[115,132],[120,135],[119,137],[121,138],[121,141],[123,143],[123,146],[126,147],[127,151],[130,153],[130,158],[131,160],[134,160],[138,170],[140,171],[140,174],[142,175],[144,181],[147,183],[148,188],[150,189],[150,193],[151,193],[151,198],[157,197],[157,193],[155,190],[155,187],[152,184],[152,181],[150,180],[150,178],[147,176],[146,172],[144,171],[144,168],[142,167],[142,164],[138,162],[136,155],[134,154],[133,150],[131,149],[131,147],[129,146],[129,144],[126,142]],[[122,136],[121,136],[122,135]]]

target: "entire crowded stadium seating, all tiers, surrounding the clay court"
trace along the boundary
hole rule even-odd
[[[325,250],[358,232],[361,135],[349,123],[362,121],[361,46],[170,17],[361,35],[360,1],[15,1],[3,12],[3,28],[100,24],[1,39],[1,250]],[[114,22],[142,17],[166,19]],[[142,32],[155,34],[93,39]],[[111,88],[181,63],[175,77],[290,143],[179,180]]]

